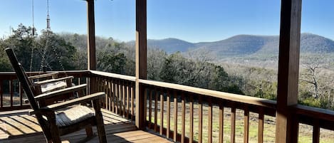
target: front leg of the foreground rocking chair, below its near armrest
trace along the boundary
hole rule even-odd
[[[98,128],[98,138],[100,140],[100,143],[107,143],[107,137],[105,135],[105,125],[103,123],[100,101],[94,100],[93,106],[95,110],[96,128]]]

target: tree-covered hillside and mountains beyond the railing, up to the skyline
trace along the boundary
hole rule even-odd
[[[11,71],[11,65],[4,53],[4,48],[7,47],[14,48],[26,71],[41,71],[43,66],[46,66],[46,70],[85,70],[87,67],[85,35],[41,31],[40,35],[33,36],[31,27],[23,25],[13,29],[13,33],[0,40],[1,71]],[[270,58],[271,55],[263,56],[262,53],[275,54],[273,49],[276,49],[274,46],[278,44],[276,38],[243,35],[214,43],[194,44],[170,38],[162,43],[166,46],[169,42],[175,41],[169,45],[174,47],[172,51],[178,49],[178,46],[180,49],[199,46],[214,48],[216,53],[194,49],[188,53],[165,51],[160,48],[160,41],[154,41],[152,45],[148,42],[147,78],[275,100],[277,68],[272,67],[277,66],[277,58]],[[225,48],[219,48],[221,44]],[[332,45],[333,41],[327,38],[313,34],[302,35],[304,48],[299,84],[299,101],[302,104],[334,109]],[[314,48],[310,48],[312,46],[317,46],[316,49],[321,51],[316,53]],[[268,48],[263,50],[263,47]],[[216,60],[213,54],[218,54],[221,50],[224,51],[221,53],[223,55],[245,55],[234,56],[228,60]],[[97,36],[96,55],[98,70],[135,75],[135,47],[132,43]],[[256,63],[266,62],[268,66],[254,66]]]

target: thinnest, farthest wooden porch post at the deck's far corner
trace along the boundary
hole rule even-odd
[[[88,27],[87,65],[88,65],[88,70],[96,70],[94,0],[86,0],[86,1],[87,1],[87,27]]]

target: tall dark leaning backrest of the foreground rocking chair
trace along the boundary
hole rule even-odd
[[[38,110],[39,107],[34,98],[33,91],[31,90],[32,86],[31,86],[30,81],[28,80],[28,76],[24,72],[24,68],[22,67],[21,63],[19,63],[19,60],[17,60],[13,49],[6,48],[5,51],[9,57],[9,60],[11,61],[11,65],[13,66],[15,70],[17,78],[19,78],[19,81],[21,82],[21,85],[24,88],[24,91],[26,92],[26,96],[28,97],[31,108],[33,108],[33,110]]]

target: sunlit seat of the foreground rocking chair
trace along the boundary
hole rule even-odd
[[[73,125],[94,116],[93,110],[83,105],[63,108],[61,110],[57,110],[55,113],[56,125],[58,127]]]

